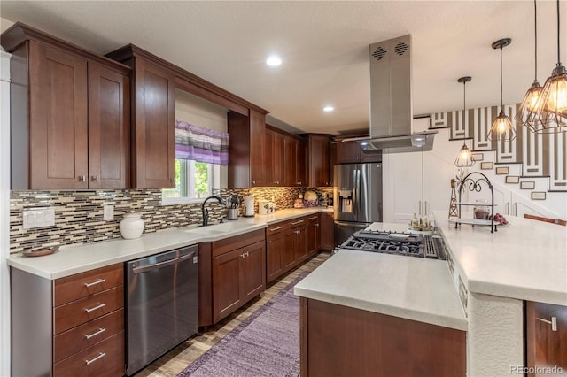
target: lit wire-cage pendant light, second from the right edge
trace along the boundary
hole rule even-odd
[[[534,79],[532,87],[525,93],[524,100],[516,113],[517,124],[528,127],[533,133],[541,133],[543,127],[540,121],[541,111],[541,86],[538,81],[538,8],[536,0],[533,0],[533,35],[534,35]]]

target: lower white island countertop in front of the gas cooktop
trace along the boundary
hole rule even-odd
[[[393,227],[384,228],[394,230]],[[331,304],[467,330],[467,320],[445,260],[339,250],[299,281],[294,293]]]

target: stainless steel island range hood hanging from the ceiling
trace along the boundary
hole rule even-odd
[[[412,132],[411,35],[370,44],[369,58],[370,137],[344,141],[383,153],[431,150],[437,131]]]

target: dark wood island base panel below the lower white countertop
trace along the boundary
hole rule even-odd
[[[466,333],[300,299],[301,377],[466,375]]]

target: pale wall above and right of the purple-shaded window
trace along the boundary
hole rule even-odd
[[[197,127],[227,132],[228,110],[218,104],[213,104],[198,96],[182,90],[175,90],[175,119],[183,120]],[[229,182],[228,167],[221,165],[221,188],[226,188]]]

